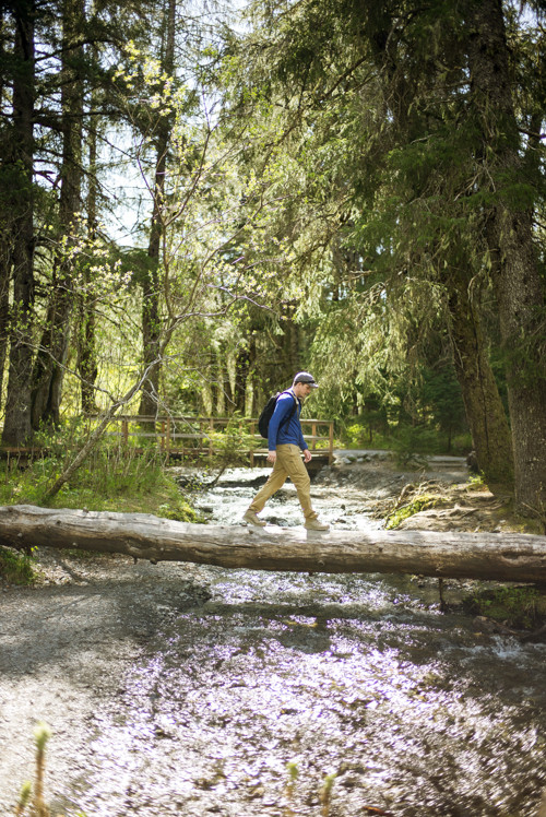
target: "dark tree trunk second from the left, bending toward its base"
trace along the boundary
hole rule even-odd
[[[51,300],[46,327],[33,371],[32,425],[41,423],[57,426],[60,419],[60,400],[64,364],[68,354],[70,315],[73,305],[73,270],[67,253],[75,241],[76,213],[81,208],[83,82],[81,60],[83,46],[79,31],[83,21],[83,0],[64,0],[62,9],[62,166],[59,221],[61,224],[61,253],[54,267]]]

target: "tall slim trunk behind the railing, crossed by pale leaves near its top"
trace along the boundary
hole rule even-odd
[[[175,66],[175,22],[176,2],[168,0],[166,13],[165,51],[163,71],[167,76],[173,75]],[[157,413],[159,400],[161,376],[161,315],[159,315],[159,263],[163,228],[163,205],[165,194],[165,173],[167,167],[167,151],[170,141],[171,122],[169,117],[162,117],[157,126],[157,154],[154,181],[154,203],[152,226],[147,256],[150,267],[145,273],[142,287],[142,353],[144,367],[149,375],[144,381],[139,414],[150,416]]]

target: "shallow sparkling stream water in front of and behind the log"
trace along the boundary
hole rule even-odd
[[[229,472],[199,504],[237,523],[256,477]],[[313,495],[337,526],[377,525],[360,490]],[[288,487],[264,517],[299,513]],[[177,585],[179,568],[155,568],[153,608],[131,589],[139,651],[88,715],[81,773],[58,784],[68,815],[538,815],[544,644],[440,613],[432,581],[194,567]]]

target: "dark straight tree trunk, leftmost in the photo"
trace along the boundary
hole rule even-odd
[[[2,442],[23,446],[32,435],[31,372],[34,306],[34,2],[14,12],[12,166],[16,189],[12,220],[13,309]]]

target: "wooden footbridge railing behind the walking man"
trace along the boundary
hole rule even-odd
[[[88,417],[91,422],[98,417]],[[334,424],[331,419],[301,419],[304,438],[310,451],[333,459]],[[116,428],[117,427],[117,428]],[[216,434],[223,433],[222,436]],[[182,417],[121,414],[112,418],[107,434],[117,436],[124,446],[139,448],[155,439],[167,458],[214,457],[232,446],[234,453],[247,454],[253,466],[268,452],[266,441],[258,431],[258,419],[248,417]]]

